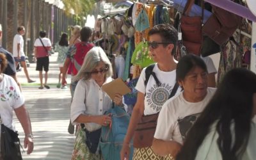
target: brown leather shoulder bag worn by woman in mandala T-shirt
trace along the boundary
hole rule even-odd
[[[175,95],[179,84],[175,83],[173,90],[169,96],[169,99]],[[154,115],[143,115],[133,136],[133,147],[144,148],[152,146],[154,140],[154,134],[156,132],[157,118],[159,113]]]

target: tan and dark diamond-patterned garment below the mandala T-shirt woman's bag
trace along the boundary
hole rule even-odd
[[[132,160],[174,160],[170,154],[165,157],[154,154],[152,147],[134,148]]]

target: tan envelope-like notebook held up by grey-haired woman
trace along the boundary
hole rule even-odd
[[[110,83],[104,84],[102,86],[102,90],[104,90],[104,92],[106,92],[112,100],[114,99],[116,93],[119,93],[120,95],[125,95],[131,92],[130,88],[124,83],[121,78],[117,78]]]

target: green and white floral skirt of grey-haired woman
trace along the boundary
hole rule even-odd
[[[81,129],[81,126],[79,125],[79,129],[77,129],[76,132],[76,141],[71,160],[103,160],[100,154],[90,153],[87,145],[85,144],[85,138],[85,132],[83,131],[83,129]]]

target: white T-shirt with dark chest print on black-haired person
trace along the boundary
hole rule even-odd
[[[161,109],[154,138],[177,141],[183,144],[186,135],[214,95],[216,88],[207,88],[207,95],[200,102],[188,102],[183,92],[167,100]]]

